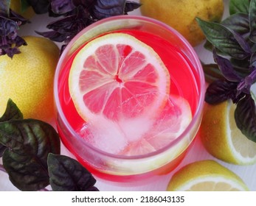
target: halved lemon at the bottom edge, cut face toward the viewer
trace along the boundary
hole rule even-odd
[[[167,191],[249,191],[237,174],[214,160],[201,160],[173,174]]]

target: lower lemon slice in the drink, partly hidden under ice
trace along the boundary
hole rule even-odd
[[[179,137],[192,119],[190,104],[181,96],[170,95],[164,109],[142,134],[139,141],[131,141],[121,152],[125,155],[140,155],[155,152]],[[143,122],[141,122],[143,124]]]

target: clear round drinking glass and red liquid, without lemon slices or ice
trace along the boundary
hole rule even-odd
[[[158,40],[151,40],[162,50],[166,66],[170,72],[170,93],[182,96],[190,104],[192,120],[184,132],[170,143],[148,154],[112,154],[85,141],[77,132],[79,116],[72,105],[69,94],[68,75],[72,58],[77,51],[99,35],[117,31],[137,31],[153,34],[170,44],[176,58],[168,56],[168,47]],[[131,33],[132,34],[132,33]],[[150,36],[148,38],[151,38]],[[172,51],[172,52],[174,52]],[[160,55],[160,54],[159,54]],[[160,57],[161,57],[160,55]],[[170,61],[170,63],[169,63]],[[136,182],[161,174],[167,174],[179,165],[188,147],[196,137],[201,124],[204,104],[204,72],[193,47],[175,29],[156,21],[137,15],[121,15],[105,18],[87,26],[66,46],[55,73],[54,96],[56,123],[64,146],[75,155],[77,160],[92,174],[114,182]],[[139,125],[137,126],[139,127]]]

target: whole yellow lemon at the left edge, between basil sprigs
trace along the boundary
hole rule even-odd
[[[51,40],[26,36],[27,46],[13,59],[0,56],[0,116],[12,99],[24,118],[51,121],[54,114],[53,79],[59,49]]]

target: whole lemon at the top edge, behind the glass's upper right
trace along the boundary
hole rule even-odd
[[[205,36],[196,22],[196,17],[205,21],[221,21],[224,13],[223,0],[140,0],[142,15],[155,18],[173,27],[192,46],[201,43]]]

